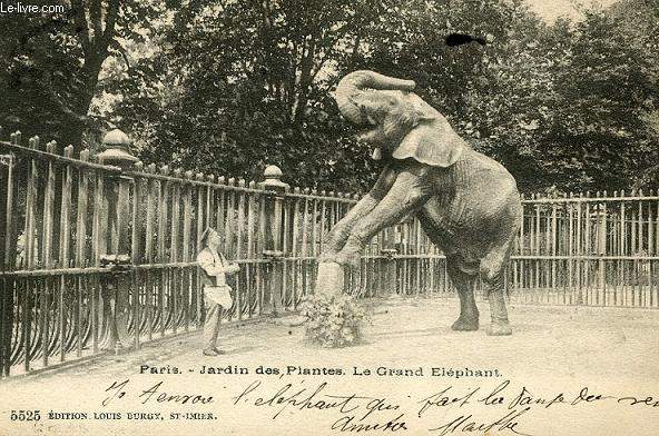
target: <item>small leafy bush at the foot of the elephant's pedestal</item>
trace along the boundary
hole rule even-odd
[[[366,319],[362,305],[344,294],[307,296],[301,305],[301,313],[306,318],[306,337],[328,348],[356,343]]]

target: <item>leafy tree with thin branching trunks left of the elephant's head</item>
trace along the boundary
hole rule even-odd
[[[145,160],[246,178],[277,164],[292,184],[361,189],[367,150],[347,139],[330,90],[373,3],[191,2],[134,66],[144,75],[105,87],[124,96],[117,122]]]

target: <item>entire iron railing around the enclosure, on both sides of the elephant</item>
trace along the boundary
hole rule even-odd
[[[26,373],[201,325],[195,257],[206,227],[240,264],[223,320],[294,311],[314,291],[327,231],[356,196],[144,167],[116,130],[91,161],[21,133],[0,141],[0,370]],[[657,307],[659,198],[523,199],[511,299]],[[357,297],[451,295],[416,219],[383,230],[346,274]]]

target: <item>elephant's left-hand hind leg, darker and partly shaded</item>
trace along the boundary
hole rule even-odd
[[[473,331],[479,329],[479,309],[474,299],[475,272],[478,269],[465,268],[464,259],[459,255],[446,257],[446,268],[451,283],[460,296],[460,317],[451,328],[459,331]]]

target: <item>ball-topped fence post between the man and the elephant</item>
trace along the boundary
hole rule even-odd
[[[282,181],[282,170],[271,165],[263,176],[263,189],[269,191],[265,202],[265,235],[263,255],[272,259],[271,274],[266,276],[263,305],[264,313],[277,316],[282,307],[282,288],[284,286],[284,229],[283,202],[289,186]]]

